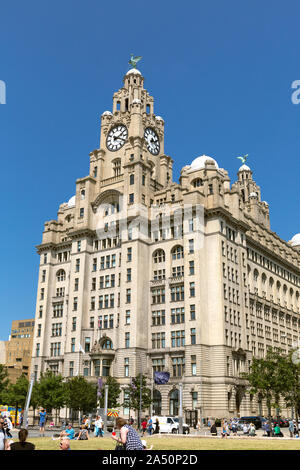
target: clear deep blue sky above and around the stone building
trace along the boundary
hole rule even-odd
[[[34,317],[43,224],[88,174],[131,52],[165,119],[174,179],[207,154],[233,182],[248,153],[272,230],[300,232],[299,15],[297,1],[2,2],[0,340]]]

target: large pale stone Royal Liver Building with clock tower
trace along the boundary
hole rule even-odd
[[[246,164],[231,183],[202,155],[174,182],[141,72],[123,82],[88,176],[45,223],[32,370],[111,375],[123,395],[142,372],[159,415],[178,414],[180,384],[186,413],[261,414],[240,373],[299,339],[300,235],[271,231]],[[169,381],[155,384],[155,371]]]

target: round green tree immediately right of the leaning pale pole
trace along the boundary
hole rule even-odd
[[[60,410],[66,404],[67,387],[60,374],[47,370],[41,374],[39,382],[35,382],[32,390],[31,403],[33,406],[42,406],[51,413],[52,409]]]

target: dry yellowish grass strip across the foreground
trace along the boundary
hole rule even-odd
[[[300,439],[239,439],[239,438],[178,438],[147,437],[147,444],[153,444],[153,450],[300,450]],[[51,438],[28,438],[37,450],[58,450],[59,441]],[[71,441],[72,450],[113,450],[115,441],[109,437],[91,438],[88,441]]]

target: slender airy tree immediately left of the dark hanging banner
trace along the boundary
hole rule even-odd
[[[123,406],[138,412],[138,424],[140,425],[140,410],[145,411],[153,401],[151,389],[147,387],[147,378],[144,375],[138,374],[137,377],[131,379],[131,384],[127,390],[128,394]]]

